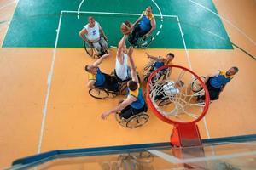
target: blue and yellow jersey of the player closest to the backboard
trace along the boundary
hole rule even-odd
[[[129,89],[129,95],[132,95],[137,98],[136,101],[131,103],[131,107],[135,109],[142,109],[145,105],[145,101],[143,98],[143,90],[140,88],[140,84],[137,83],[137,89],[134,91],[131,91]]]

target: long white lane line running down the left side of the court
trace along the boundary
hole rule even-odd
[[[41,131],[40,131],[39,142],[38,142],[38,154],[41,153],[42,140],[43,140],[43,136],[44,136],[44,124],[45,124],[45,119],[46,119],[46,112],[47,112],[47,106],[48,106],[48,100],[49,100],[49,91],[50,91],[50,86],[51,86],[51,80],[52,80],[52,75],[53,75],[53,71],[54,71],[54,67],[55,67],[55,54],[56,54],[56,48],[57,48],[58,41],[59,41],[61,20],[62,20],[62,13],[60,14],[58,29],[56,30],[57,33],[56,33],[56,39],[55,39],[55,48],[53,50],[50,71],[49,71],[48,79],[47,79],[47,93],[46,93],[46,97],[44,100],[43,120],[41,123]]]

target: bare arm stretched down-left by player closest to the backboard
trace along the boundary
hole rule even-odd
[[[127,105],[130,105],[132,102],[136,101],[136,98],[134,96],[129,95],[122,103],[120,103],[118,106],[114,107],[113,109],[106,111],[102,113],[101,117],[102,119],[107,119],[107,117],[112,114],[116,113],[118,111],[122,111],[125,109]]]

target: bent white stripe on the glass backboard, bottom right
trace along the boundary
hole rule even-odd
[[[147,150],[150,153],[154,154],[155,156],[159,156],[160,158],[169,161],[171,163],[193,163],[199,161],[215,161],[215,160],[222,160],[222,159],[230,159],[230,158],[237,158],[243,156],[256,156],[256,151],[248,151],[248,152],[241,152],[235,154],[225,154],[220,156],[205,156],[205,157],[194,157],[188,159],[179,159],[175,156],[171,156],[159,150]]]

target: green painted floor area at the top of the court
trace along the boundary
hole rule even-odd
[[[217,13],[212,0],[197,0],[196,2]],[[53,48],[61,10],[77,11],[80,3],[81,0],[20,0],[3,47]],[[155,3],[160,7],[162,14],[178,16],[187,48],[232,49],[224,26],[216,15],[196,6],[189,0],[158,0]],[[160,14],[151,0],[85,0],[80,10],[141,14],[148,5],[153,7],[154,14]],[[122,37],[119,31],[120,24],[124,20],[131,22],[137,20],[137,16],[120,14],[80,14],[80,19],[78,19],[75,13],[64,13],[61,19],[59,48],[82,47],[78,32],[87,23],[89,15],[94,16],[100,22],[112,46],[116,46]],[[157,28],[153,35],[155,36],[158,31],[160,34],[155,37],[149,48],[184,48],[177,18],[164,17],[163,22],[158,16],[155,16],[155,19]],[[162,29],[160,29],[161,23],[163,23]]]

